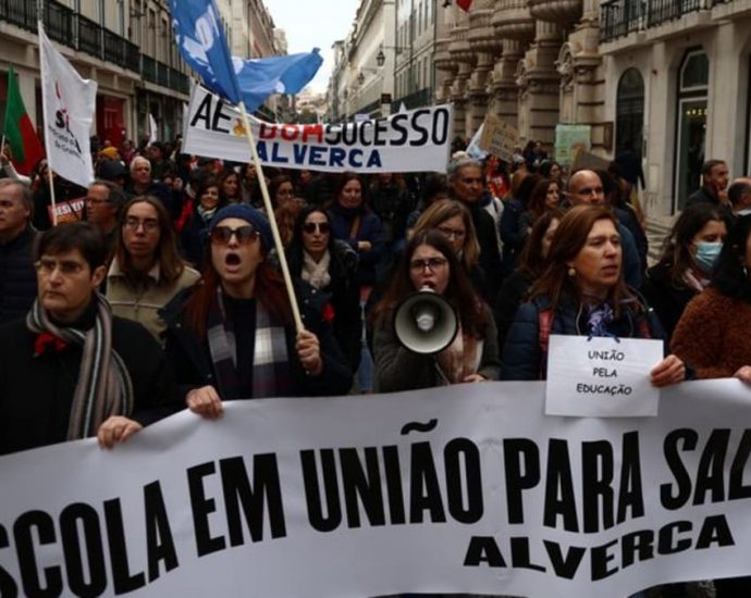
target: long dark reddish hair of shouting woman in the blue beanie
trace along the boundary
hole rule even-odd
[[[269,248],[263,245],[261,238],[259,237],[255,242],[261,244],[261,256],[263,256],[263,261],[258,264],[258,270],[256,270],[256,299],[263,303],[269,313],[285,324],[291,324],[293,321],[292,306],[284,279],[279,271],[266,259]],[[206,335],[209,310],[217,300],[217,287],[222,283],[217,269],[213,266],[213,260],[210,254],[211,248],[209,247],[208,250],[209,259],[202,272],[202,284],[196,286],[196,289],[185,303],[188,326],[199,337]]]

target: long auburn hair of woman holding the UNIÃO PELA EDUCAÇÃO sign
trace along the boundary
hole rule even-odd
[[[553,311],[563,300],[576,301],[579,291],[576,279],[568,275],[568,263],[576,259],[587,244],[594,223],[607,220],[617,226],[615,216],[602,205],[576,205],[568,210],[555,232],[547,256],[547,266],[542,276],[530,289],[530,297],[543,296],[551,301]],[[633,301],[635,295],[624,282],[623,256],[620,274],[615,287],[611,290],[608,301],[616,313],[620,314],[621,307],[627,301]]]

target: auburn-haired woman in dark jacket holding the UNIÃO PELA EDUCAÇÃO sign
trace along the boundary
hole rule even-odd
[[[664,338],[654,311],[624,282],[620,235],[603,207],[578,205],[561,219],[529,296],[506,336],[502,379],[545,379],[551,334]],[[686,366],[669,354],[650,377],[655,386],[677,384]]]

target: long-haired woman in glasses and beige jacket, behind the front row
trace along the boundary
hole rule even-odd
[[[128,201],[107,274],[112,313],[139,322],[159,340],[167,327],[159,310],[199,277],[177,252],[175,233],[162,202],[150,196]]]

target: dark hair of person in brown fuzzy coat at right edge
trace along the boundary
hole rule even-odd
[[[723,244],[717,264],[712,274],[711,286],[726,297],[751,302],[746,253],[751,235],[751,215],[739,216]]]

